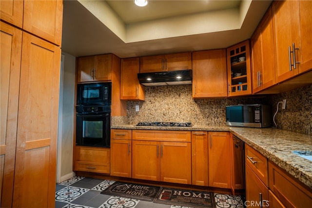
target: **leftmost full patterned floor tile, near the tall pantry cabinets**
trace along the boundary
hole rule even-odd
[[[55,193],[55,200],[59,202],[70,203],[73,200],[77,199],[79,196],[87,192],[87,188],[79,187],[64,187]]]

